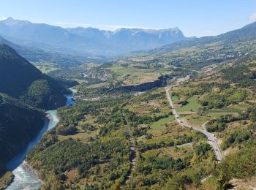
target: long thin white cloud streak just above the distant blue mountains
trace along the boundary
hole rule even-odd
[[[105,29],[105,30],[116,30],[118,28],[143,28],[143,29],[152,29],[152,28],[147,28],[147,27],[142,27],[142,26],[118,26],[118,25],[102,25],[102,24],[89,24],[89,23],[65,23],[65,22],[59,22],[59,23],[54,23],[57,26],[62,26],[62,27],[94,27],[94,28],[100,28],[100,29]]]

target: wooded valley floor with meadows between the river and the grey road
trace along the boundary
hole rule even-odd
[[[58,115],[27,157],[44,188],[192,188],[216,165],[207,137],[175,120],[163,87],[77,100]]]

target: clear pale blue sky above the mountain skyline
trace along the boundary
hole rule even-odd
[[[107,30],[178,27],[203,37],[256,21],[256,0],[0,0],[0,20],[8,17]]]

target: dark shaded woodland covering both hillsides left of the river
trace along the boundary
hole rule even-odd
[[[11,47],[0,45],[0,189],[12,180],[6,164],[33,140],[45,110],[64,105],[68,93]]]

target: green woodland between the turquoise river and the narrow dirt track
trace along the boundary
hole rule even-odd
[[[130,150],[121,110],[121,100],[83,102],[58,110],[60,122],[41,140],[27,158],[45,180],[44,188],[88,186],[90,189],[120,186],[129,171]],[[88,115],[99,115],[92,123],[81,123]],[[79,126],[78,126],[79,125]],[[84,132],[97,133],[88,140],[75,137]],[[118,134],[118,135],[117,135]],[[45,157],[46,156],[46,157]],[[76,178],[67,173],[75,170]],[[72,185],[75,183],[76,185]],[[58,186],[55,186],[55,184]]]

